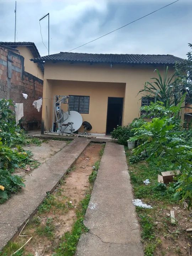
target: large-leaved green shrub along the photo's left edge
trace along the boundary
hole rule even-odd
[[[14,107],[11,100],[0,99],[0,203],[25,186],[23,178],[12,173],[16,167],[24,167],[29,160],[28,152],[17,146],[25,143],[25,135],[16,126],[11,107]]]

